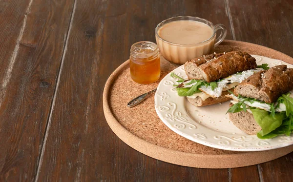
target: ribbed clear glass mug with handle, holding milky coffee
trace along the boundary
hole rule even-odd
[[[197,21],[200,23],[204,23],[208,25],[207,27],[211,28],[211,30],[209,30],[211,32],[211,36],[208,39],[203,40],[199,43],[188,43],[188,44],[174,43],[174,42],[164,40],[162,38],[164,36],[163,35],[160,36],[160,29],[164,27],[164,25],[166,25],[167,23],[170,23],[173,21],[179,21],[179,20],[189,20],[189,21]],[[216,38],[217,30],[221,30],[221,33]],[[190,16],[174,17],[174,18],[164,20],[157,25],[155,31],[156,31],[156,41],[160,49],[161,55],[167,61],[174,62],[177,64],[184,64],[186,61],[189,61],[193,58],[212,53],[214,47],[220,44],[227,35],[227,30],[225,25],[223,24],[213,25],[212,22],[208,20],[198,18],[198,17],[190,17]],[[180,39],[180,32],[178,32],[177,34],[174,31],[168,32],[168,34],[170,34],[168,36],[172,36],[172,33],[174,33],[174,36],[177,36],[178,39]],[[196,35],[192,35],[192,37],[194,36]]]

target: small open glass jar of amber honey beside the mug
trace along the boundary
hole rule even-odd
[[[160,56],[157,44],[136,42],[130,49],[130,76],[137,83],[148,84],[159,80]]]

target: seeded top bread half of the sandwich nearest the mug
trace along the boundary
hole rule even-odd
[[[240,51],[202,56],[184,64],[188,79],[208,82],[256,67],[255,59],[248,53]]]

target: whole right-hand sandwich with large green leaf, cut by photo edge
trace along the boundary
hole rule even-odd
[[[293,69],[278,65],[242,81],[227,97],[230,121],[243,132],[271,139],[293,131]]]

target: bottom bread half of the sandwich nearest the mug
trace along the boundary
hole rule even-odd
[[[225,95],[227,95],[227,94],[229,94],[229,92],[228,91],[224,91],[224,92],[222,92],[222,96],[217,97],[217,98],[209,97],[205,101],[203,101],[200,97],[196,97],[195,99],[192,99],[192,98],[188,98],[187,97],[187,100],[192,105],[197,106],[197,107],[200,107],[200,106],[212,105],[212,104],[222,103],[222,102],[226,102],[226,101],[232,100],[232,99],[230,99],[228,97],[225,97]]]

